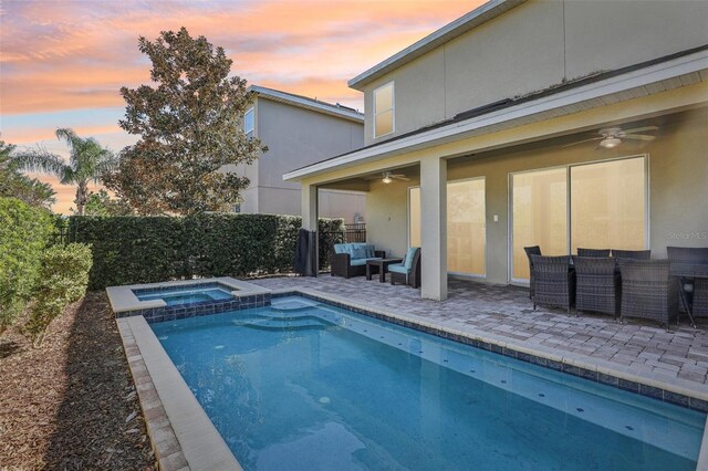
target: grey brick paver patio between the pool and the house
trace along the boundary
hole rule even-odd
[[[435,323],[442,328],[502,339],[509,345],[563,357],[583,358],[616,371],[660,381],[674,387],[708,393],[708,326],[699,320],[697,329],[684,321],[671,332],[656,323],[628,320],[615,323],[612,316],[539,306],[533,311],[527,289],[450,280],[449,297],[444,302],[423,300],[419,290],[364,276],[343,279],[272,278],[256,280],[268,289],[301,289],[337,296],[372,310],[383,310],[412,321]]]

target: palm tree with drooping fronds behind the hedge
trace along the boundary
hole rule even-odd
[[[63,185],[76,186],[76,213],[83,216],[88,200],[88,182],[97,182],[101,177],[115,166],[115,156],[101,146],[93,137],[79,137],[73,129],[56,129],[56,138],[64,140],[70,148],[69,164],[56,154],[44,149],[15,153],[13,159],[24,170],[55,175]]]

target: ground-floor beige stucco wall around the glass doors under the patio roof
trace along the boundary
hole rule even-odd
[[[662,122],[657,138],[648,145],[627,140],[613,150],[596,150],[594,143],[541,146],[449,160],[448,180],[486,177],[487,280],[508,281],[508,180],[510,172],[521,170],[647,154],[653,257],[666,257],[666,245],[708,247],[708,111],[665,116]],[[369,242],[403,254],[408,237],[407,188],[417,185],[417,180],[372,184],[366,208]]]

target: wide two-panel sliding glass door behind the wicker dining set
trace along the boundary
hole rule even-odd
[[[512,174],[510,181],[512,280],[529,278],[524,247],[563,255],[577,253],[579,247],[641,250],[648,244],[644,156]]]

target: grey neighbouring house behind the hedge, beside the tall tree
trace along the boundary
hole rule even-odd
[[[252,165],[239,166],[251,184],[243,191],[240,212],[300,214],[300,185],[282,175],[364,145],[364,116],[355,109],[251,85],[256,98],[243,117],[247,134],[268,151]],[[320,216],[363,221],[366,196],[362,191],[330,189],[320,192]]]

